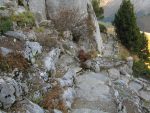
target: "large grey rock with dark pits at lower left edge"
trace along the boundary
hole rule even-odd
[[[11,107],[24,94],[21,83],[11,78],[0,79],[0,89],[0,102],[4,109]]]

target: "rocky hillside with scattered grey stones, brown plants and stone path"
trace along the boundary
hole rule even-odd
[[[100,33],[89,0],[21,4],[0,0],[0,4],[1,17],[27,10],[35,17],[35,25],[20,27],[14,22],[13,30],[0,36],[1,113],[150,112],[150,81],[133,77],[133,58],[120,58],[116,37]],[[78,7],[78,13],[85,14],[82,18],[90,17],[83,28],[94,26],[92,33],[88,29],[77,40],[74,32],[80,33],[81,26],[60,31],[63,16],[56,22],[52,17],[61,7]],[[77,18],[74,12],[73,17]],[[74,18],[76,23],[81,17]]]

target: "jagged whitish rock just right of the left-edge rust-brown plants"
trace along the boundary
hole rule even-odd
[[[24,56],[32,63],[35,63],[35,57],[42,52],[42,46],[38,42],[27,41],[25,45]]]

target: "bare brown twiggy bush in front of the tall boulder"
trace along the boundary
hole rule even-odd
[[[72,32],[75,42],[78,42],[81,37],[91,37],[95,30],[90,15],[80,14],[79,12],[79,9],[61,8],[55,16],[51,17],[59,32],[67,30]]]

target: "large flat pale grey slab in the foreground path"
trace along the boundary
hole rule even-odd
[[[101,77],[99,73],[86,73],[79,76],[77,89],[77,97],[88,101],[104,100],[109,101],[110,88],[104,83],[107,77]]]

